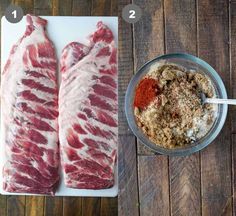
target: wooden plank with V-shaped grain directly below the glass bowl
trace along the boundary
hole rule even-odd
[[[199,153],[170,157],[171,215],[201,215]]]

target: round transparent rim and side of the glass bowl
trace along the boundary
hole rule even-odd
[[[163,155],[186,156],[186,155],[193,154],[193,153],[205,148],[210,143],[212,143],[213,140],[215,140],[215,138],[219,135],[220,131],[222,130],[222,128],[224,126],[224,123],[225,123],[225,120],[227,117],[227,112],[228,112],[228,105],[227,104],[221,105],[222,112],[221,112],[221,117],[220,117],[219,123],[218,123],[217,127],[216,126],[212,127],[212,128],[216,127],[216,129],[213,131],[213,133],[211,134],[211,136],[207,140],[204,140],[204,142],[202,142],[202,143],[195,144],[194,146],[189,145],[187,148],[174,148],[174,149],[163,148],[161,146],[156,145],[155,143],[150,141],[148,138],[145,138],[144,134],[140,131],[139,127],[136,124],[134,114],[133,114],[133,107],[129,105],[130,104],[129,103],[130,95],[132,94],[131,91],[133,91],[133,88],[136,86],[136,85],[134,86],[134,83],[137,80],[140,80],[141,75],[143,75],[143,70],[148,65],[151,65],[152,63],[154,63],[156,61],[172,59],[172,58],[175,58],[175,59],[180,58],[180,59],[190,60],[191,62],[194,62],[194,63],[202,66],[203,68],[205,68],[215,78],[215,80],[217,82],[217,86],[220,88],[222,98],[227,98],[226,88],[225,88],[225,85],[224,85],[220,75],[207,62],[205,62],[204,60],[202,60],[196,56],[193,56],[193,55],[190,55],[187,53],[170,53],[170,54],[157,56],[157,57],[153,58],[152,60],[147,61],[133,75],[132,79],[129,82],[129,85],[127,87],[126,94],[125,94],[125,115],[126,115],[126,119],[128,121],[128,125],[129,125],[130,129],[132,130],[132,132],[134,133],[134,135],[149,149],[151,149],[152,151],[154,151],[156,153],[160,153]]]

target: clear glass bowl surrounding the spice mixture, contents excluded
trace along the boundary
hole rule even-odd
[[[134,116],[134,107],[133,107],[134,94],[137,84],[142,79],[142,77],[149,71],[150,67],[158,62],[163,62],[163,61],[165,63],[178,64],[189,70],[191,69],[197,70],[203,74],[206,74],[212,81],[217,98],[227,98],[226,89],[218,73],[208,63],[206,63],[200,58],[183,53],[167,54],[156,57],[155,59],[144,64],[131,79],[125,95],[125,113],[126,113],[126,118],[128,120],[128,124],[133,133],[135,134],[135,136],[144,145],[151,148],[154,152],[172,156],[189,155],[203,149],[217,137],[217,135],[220,133],[225,123],[228,111],[228,105],[218,105],[217,117],[212,128],[204,137],[197,140],[193,144],[174,149],[166,149],[150,141],[148,137],[142,132],[142,130],[136,124]]]

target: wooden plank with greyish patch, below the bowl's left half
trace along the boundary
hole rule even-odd
[[[169,215],[168,158],[139,156],[138,169],[140,215]]]

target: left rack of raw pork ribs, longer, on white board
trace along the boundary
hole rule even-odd
[[[57,62],[47,21],[26,19],[2,72],[3,188],[53,195],[59,181]]]

